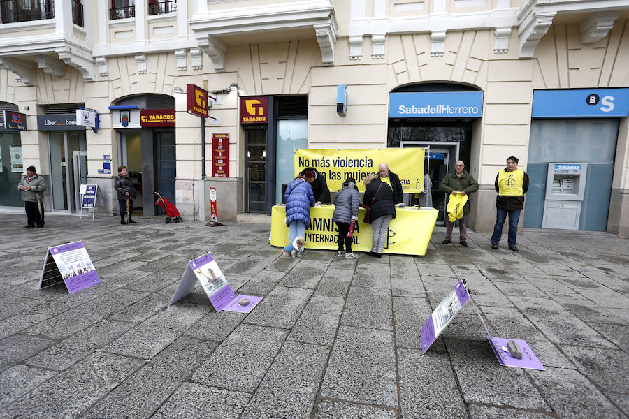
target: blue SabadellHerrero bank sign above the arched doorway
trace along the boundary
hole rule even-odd
[[[390,93],[389,118],[480,118],[482,91]]]

